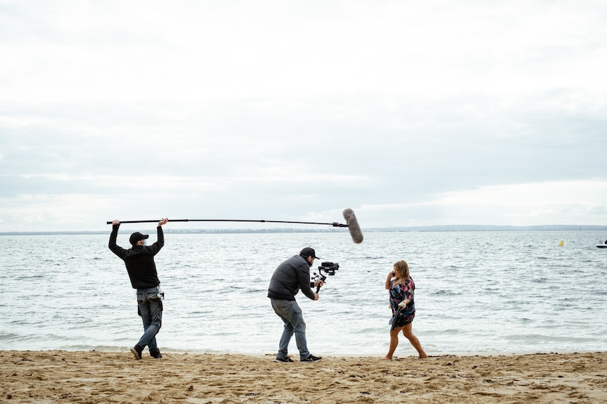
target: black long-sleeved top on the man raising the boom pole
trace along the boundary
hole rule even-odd
[[[156,287],[160,285],[158,273],[156,273],[154,256],[158,254],[160,249],[164,246],[164,233],[161,226],[156,228],[158,232],[158,241],[153,245],[136,245],[131,249],[123,249],[123,247],[116,245],[119,227],[120,225],[113,226],[108,247],[114,254],[125,261],[125,266],[127,267],[133,289]]]

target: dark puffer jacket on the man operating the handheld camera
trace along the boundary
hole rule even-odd
[[[314,292],[310,287],[310,266],[301,255],[294,255],[282,262],[274,271],[268,297],[272,299],[295,300],[299,292],[314,300]]]

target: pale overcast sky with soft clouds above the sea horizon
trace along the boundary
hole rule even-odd
[[[0,232],[607,225],[605,1],[0,0],[0,72]]]

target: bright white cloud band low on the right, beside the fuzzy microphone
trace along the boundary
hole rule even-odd
[[[606,200],[607,181],[521,183],[441,193],[423,202],[363,205],[357,217],[380,227],[597,225],[607,221]]]

